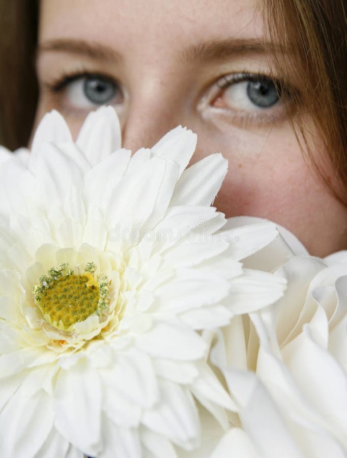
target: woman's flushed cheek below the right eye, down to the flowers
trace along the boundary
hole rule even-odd
[[[219,211],[226,217],[275,221],[293,232],[311,254],[323,256],[347,247],[347,209],[303,157],[288,127],[273,129],[267,136],[235,129],[232,134],[230,129],[227,142],[221,138],[219,148],[208,146],[209,154],[220,151],[229,163],[214,202]],[[199,149],[195,161],[203,155]]]

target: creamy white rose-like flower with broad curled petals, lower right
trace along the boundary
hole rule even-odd
[[[274,264],[288,253],[276,243],[262,250]],[[347,256],[288,257],[275,272],[287,281],[284,296],[217,331],[211,359],[240,424],[213,458],[235,447],[244,458],[347,456]]]

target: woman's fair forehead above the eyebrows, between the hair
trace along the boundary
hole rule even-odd
[[[168,51],[204,40],[261,37],[256,0],[41,0],[39,40],[83,38]],[[166,45],[166,46],[165,46]]]

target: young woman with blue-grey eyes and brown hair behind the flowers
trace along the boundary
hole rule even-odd
[[[273,220],[314,255],[347,248],[346,0],[1,4],[6,146],[52,108],[76,134],[113,105],[132,150],[182,124],[194,161],[229,161],[214,204],[226,217]]]

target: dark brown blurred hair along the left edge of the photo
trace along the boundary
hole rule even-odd
[[[27,145],[35,116],[37,12],[38,0],[0,0],[0,144],[10,150]]]

